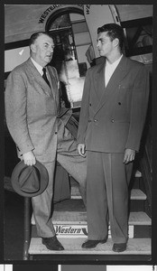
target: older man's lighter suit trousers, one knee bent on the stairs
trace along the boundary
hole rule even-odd
[[[36,157],[40,161],[40,158]],[[52,224],[52,197],[53,197],[53,176],[56,161],[79,183],[79,190],[82,199],[86,204],[86,159],[78,154],[77,143],[69,130],[65,128],[64,138],[59,136],[56,160],[51,163],[43,163],[49,173],[49,184],[41,195],[32,198],[33,216],[38,236],[50,238],[55,235]]]

